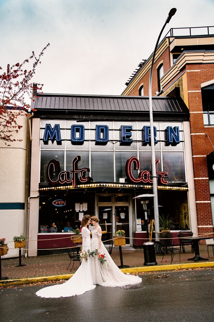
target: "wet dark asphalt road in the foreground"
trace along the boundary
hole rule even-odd
[[[35,292],[46,285],[0,289],[0,321],[214,321],[214,270],[146,274],[137,286],[96,286],[69,298],[37,297]]]

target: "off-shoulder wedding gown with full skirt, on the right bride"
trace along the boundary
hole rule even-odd
[[[98,237],[101,235],[102,234],[99,234],[97,230],[92,231],[92,251],[94,251],[95,249],[98,250]],[[103,242],[101,242],[101,254],[105,254],[105,259],[107,260],[110,268],[106,268],[104,265],[101,265],[98,260],[98,256],[91,257],[90,265],[92,281],[94,284],[116,287],[137,284],[141,282],[142,279],[139,276],[126,275],[116,266],[111,256],[109,255],[106,247],[104,246]]]

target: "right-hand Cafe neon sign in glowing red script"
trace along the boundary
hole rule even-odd
[[[156,165],[156,172],[157,172],[157,179],[160,179],[161,184],[166,184],[168,183],[167,180],[165,180],[164,176],[167,175],[168,173],[166,171],[158,171],[158,163],[160,162],[159,159],[155,160],[155,165]],[[138,178],[135,178],[132,174],[132,164],[134,163],[134,170],[140,170],[140,161],[136,156],[132,156],[129,158],[126,162],[126,175],[127,177],[134,183],[152,183],[153,180],[150,179],[150,173],[147,170],[143,170],[140,172]]]

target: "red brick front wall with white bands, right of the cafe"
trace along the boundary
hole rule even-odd
[[[201,83],[214,79],[214,69],[213,64],[194,64],[186,65],[186,71],[194,178],[207,178],[194,179],[198,225],[212,225],[206,155],[213,151],[213,147],[206,134],[209,134],[211,141],[214,143],[214,128],[204,127]],[[201,113],[191,113],[196,111]],[[198,230],[199,234],[213,232],[211,227],[199,227]]]

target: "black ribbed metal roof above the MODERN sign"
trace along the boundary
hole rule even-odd
[[[105,96],[37,93],[32,108],[38,112],[149,112],[147,96]],[[154,113],[189,114],[181,97],[152,97]]]

